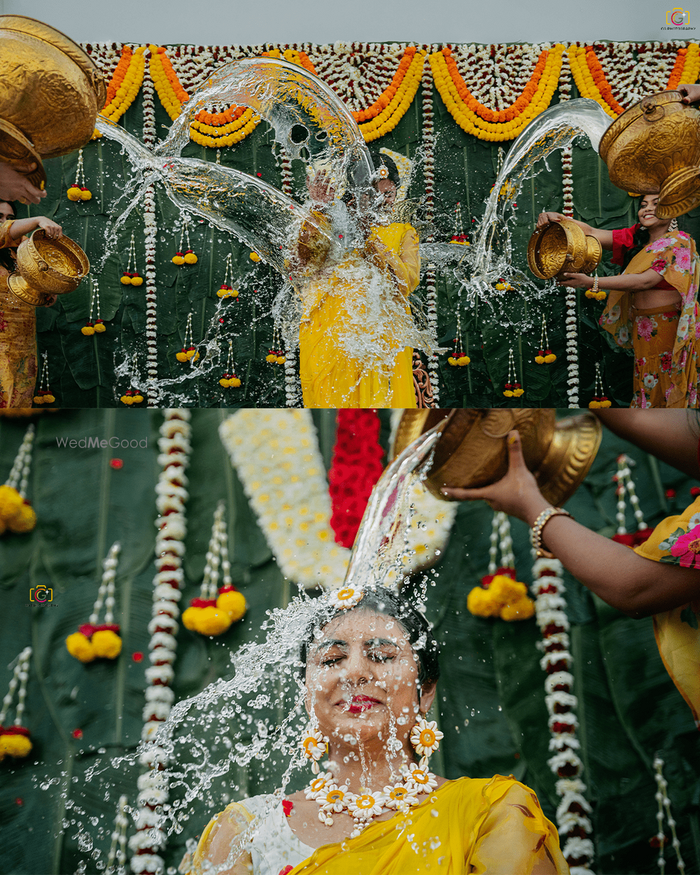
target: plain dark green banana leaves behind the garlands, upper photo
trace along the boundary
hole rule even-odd
[[[628,51],[632,51],[628,49]],[[577,97],[573,86],[572,97]],[[419,88],[409,110],[395,130],[380,137],[372,148],[387,147],[415,158],[423,143],[422,89]],[[558,101],[554,95],[552,103]],[[170,117],[156,99],[156,125],[159,136],[165,137]],[[498,144],[479,140],[465,134],[445,108],[433,89],[432,105],[437,137],[435,153],[435,223],[437,239],[449,241],[455,232],[455,207],[462,205],[465,231],[473,228],[473,221],[483,214],[484,202],[490,193],[499,166]],[[123,116],[127,130],[143,136],[143,91]],[[273,137],[266,123],[261,123],[235,147],[221,150],[221,163],[244,172],[258,174],[273,186],[281,186],[281,165],[272,151]],[[509,143],[503,144],[507,150]],[[216,150],[189,144],[186,156],[216,160]],[[120,147],[106,138],[89,143],[84,149],[87,186],[92,200],[72,203],[66,198],[66,189],[76,179],[78,154],[55,158],[46,162],[48,197],[39,207],[29,207],[31,214],[48,214],[63,226],[66,234],[81,243],[94,264],[106,247],[109,211],[121,212],[126,206],[112,205],[123,192],[130,165]],[[526,268],[527,242],[535,219],[542,210],[561,212],[562,172],[559,153],[549,159],[549,167],[539,165],[535,179],[525,183],[518,198],[518,208],[512,227],[513,261]],[[297,197],[304,200],[304,168],[294,162],[294,188]],[[634,201],[610,183],[606,165],[583,138],[573,150],[573,184],[575,217],[604,228],[628,227],[636,221]],[[409,193],[421,197],[424,193],[422,170],[416,173]],[[19,215],[27,208],[20,207]],[[700,212],[693,211],[681,220],[684,230],[695,237],[700,233]],[[193,380],[186,388],[180,403],[188,406],[284,406],[285,392],[283,367],[269,365],[265,355],[272,346],[273,322],[270,305],[280,287],[275,271],[264,263],[254,264],[248,259],[249,250],[233,238],[210,228],[203,221],[195,221],[191,242],[199,256],[195,265],[178,268],[172,264],[172,255],[178,249],[180,235],[179,211],[158,190],[157,203],[157,288],[158,288],[158,377],[169,381],[184,373],[189,364],[175,359],[185,340],[188,313],[193,313],[195,343],[204,337],[207,325],[214,317],[219,298],[216,290],[224,281],[227,255],[233,254],[234,286],[241,292],[236,302],[229,299],[224,306],[224,325],[220,331],[224,339],[233,340],[237,373],[242,387],[235,392],[222,389],[219,378],[226,366],[215,367]],[[48,353],[51,387],[59,404],[64,407],[114,407],[129,387],[128,377],[115,376],[115,364],[131,360],[137,353],[139,371],[145,377],[145,286],[123,286],[119,279],[127,269],[130,236],[134,232],[137,246],[137,265],[144,274],[144,222],[140,208],[135,209],[120,229],[113,254],[95,276],[99,278],[102,318],[108,322],[107,332],[85,337],[81,327],[88,318],[90,283],[85,281],[71,295],[61,297],[59,304],[49,310],[38,311],[39,352]],[[609,254],[600,272],[614,272]],[[424,309],[425,288],[420,286],[417,297]],[[545,304],[530,303],[514,294],[514,316],[523,318],[528,311],[529,324],[534,330],[522,334],[504,331],[498,311],[486,304],[476,309],[466,308],[464,297],[458,297],[458,282],[445,271],[437,278],[437,334],[444,346],[449,346],[457,334],[457,307],[465,344],[472,357],[469,367],[450,367],[447,353],[440,356],[440,402],[444,406],[498,407],[513,403],[502,395],[507,379],[508,347],[516,354],[517,373],[525,388],[518,406],[564,406],[567,371],[564,355],[564,301],[563,290],[554,292]],[[627,406],[632,395],[631,353],[613,349],[598,328],[598,316],[603,304],[586,299],[578,292],[580,398],[586,403],[594,394],[595,363],[603,362],[606,393],[615,402]],[[547,321],[549,344],[556,352],[556,362],[547,367],[535,364],[539,349],[542,312]],[[227,346],[224,343],[224,346]]]

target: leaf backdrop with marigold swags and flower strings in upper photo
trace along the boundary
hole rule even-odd
[[[418,159],[409,195],[424,198],[425,217],[437,226],[438,241],[459,235],[472,240],[501,150],[507,150],[543,109],[581,95],[597,100],[613,118],[644,94],[696,81],[700,66],[698,45],[677,41],[85,47],[109,80],[105,114],[150,145],[165,137],[188,95],[222,64],[269,54],[313,70],[347,102],[372,148],[386,147]],[[190,135],[186,155],[221,161],[304,200],[303,165],[279,153],[269,126],[251,110],[202,110]],[[78,153],[46,162],[49,196],[29,210],[52,215],[96,263],[106,246],[109,209],[123,192],[130,165],[118,146],[104,137],[82,150],[84,182],[78,164]],[[66,197],[69,188],[78,200],[69,200],[71,193]],[[82,199],[79,188],[91,193],[89,200]],[[125,206],[118,203],[116,212]],[[606,165],[587,140],[552,156],[549,169],[541,165],[521,192],[513,251],[514,262],[523,269],[536,215],[545,209],[572,213],[604,228],[626,227],[636,219],[634,201],[611,185]],[[700,234],[698,215],[693,211],[681,220],[695,236]],[[135,264],[130,258],[132,234]],[[181,263],[173,263],[180,247]],[[51,309],[38,311],[39,351],[48,353],[50,387],[57,402],[65,407],[111,407],[121,405],[124,397],[131,402],[133,395],[140,395],[145,400],[137,403],[155,406],[158,387],[172,387],[173,378],[189,374],[192,378],[178,386],[184,406],[298,405],[294,351],[266,360],[272,351],[279,352],[270,306],[280,280],[252,255],[253,260],[248,248],[196,218],[183,235],[179,212],[158,186],[151,190],[120,229],[102,269],[92,275],[99,279],[106,331],[82,332],[90,315],[91,282]],[[609,261],[601,270],[612,272]],[[136,272],[139,276],[124,276]],[[597,394],[599,363],[606,394],[628,404],[632,361],[626,352],[613,350],[599,331],[602,303],[585,298],[583,291],[565,297],[558,289],[542,305],[514,290],[507,306],[515,316],[528,315],[536,331],[508,335],[498,312],[483,301],[467,308],[458,288],[450,271],[424,266],[416,304],[437,325],[444,346],[452,347],[459,333],[463,351],[471,358],[466,367],[451,367],[451,353],[416,361],[423,384],[424,374],[430,374],[434,402],[585,406]],[[535,362],[542,316],[557,356],[545,365]],[[231,367],[225,353],[211,369],[208,362],[202,368],[203,360],[177,360],[183,347],[197,346],[207,331],[212,336],[211,325],[220,332],[225,350],[231,341]],[[524,389],[520,397],[503,395],[509,347]],[[198,368],[206,373],[197,376]],[[220,379],[232,369],[241,385],[222,386]],[[126,395],[131,389],[133,393]],[[430,403],[428,392],[423,391],[423,397]]]

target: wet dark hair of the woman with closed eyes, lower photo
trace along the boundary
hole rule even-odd
[[[418,662],[418,684],[436,683],[440,676],[438,662],[439,648],[437,641],[430,631],[428,620],[416,610],[409,601],[396,595],[393,591],[380,588],[379,590],[365,590],[360,602],[353,608],[336,608],[325,605],[314,617],[306,630],[306,637],[301,645],[300,660],[304,665],[304,671],[309,655],[309,648],[318,640],[318,633],[326,627],[331,620],[349,613],[350,611],[375,611],[385,617],[396,620],[406,633],[409,644],[416,654]],[[420,694],[420,690],[418,690]]]

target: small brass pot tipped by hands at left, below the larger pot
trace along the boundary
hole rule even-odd
[[[70,237],[51,240],[39,228],[17,248],[17,270],[7,277],[14,295],[32,306],[42,306],[46,296],[65,295],[88,276],[88,256]]]

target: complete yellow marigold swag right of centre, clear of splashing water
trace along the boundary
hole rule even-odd
[[[535,116],[539,116],[541,112],[549,107],[549,102],[552,99],[552,95],[554,95],[557,82],[559,81],[563,51],[564,46],[561,43],[557,43],[547,52],[544,67],[532,99],[514,118],[506,122],[486,121],[479,115],[480,104],[477,106],[477,111],[470,109],[469,103],[473,101],[471,95],[466,90],[464,80],[458,73],[457,66],[454,65],[454,62],[452,62],[453,66],[448,66],[447,56],[450,54],[449,49],[443,49],[442,52],[433,52],[430,55],[430,67],[432,68],[433,81],[437,91],[459,127],[465,133],[479,137],[480,140],[498,142],[512,140],[514,137],[517,137],[521,130]],[[460,91],[462,92],[461,95]],[[465,95],[466,99],[462,95]],[[486,107],[482,109],[486,110]],[[507,110],[504,112],[507,112]],[[486,115],[486,112],[484,115]]]

